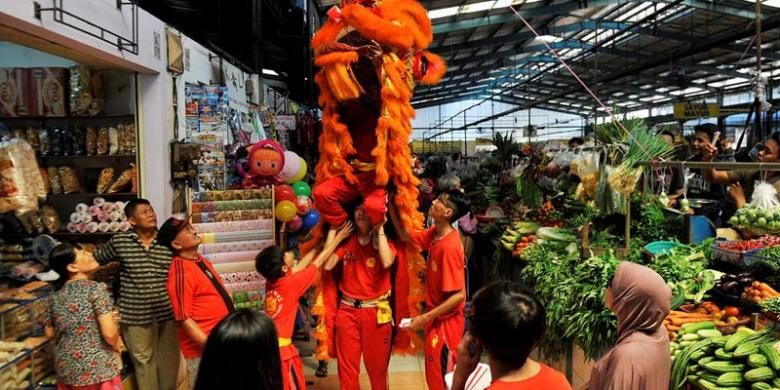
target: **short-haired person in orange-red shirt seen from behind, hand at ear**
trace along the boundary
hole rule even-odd
[[[532,294],[515,283],[495,282],[474,295],[473,309],[451,390],[466,387],[483,348],[493,381],[490,390],[571,390],[563,374],[528,359],[545,328],[544,307]]]

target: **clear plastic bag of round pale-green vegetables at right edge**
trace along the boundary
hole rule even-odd
[[[780,232],[780,201],[777,189],[765,181],[757,181],[750,203],[737,210],[729,223],[754,234]]]

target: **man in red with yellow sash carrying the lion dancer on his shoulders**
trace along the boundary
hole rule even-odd
[[[395,245],[384,222],[373,229],[363,205],[355,209],[356,233],[325,264],[340,266],[341,302],[336,312],[336,358],[342,390],[360,390],[360,356],[373,390],[388,387],[387,369],[393,333],[390,267]]]

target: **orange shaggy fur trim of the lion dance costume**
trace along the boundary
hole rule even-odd
[[[341,11],[342,19],[328,20],[314,35],[312,47],[320,53],[329,43],[335,42],[346,27],[352,27],[364,37],[375,40],[383,46],[389,46],[400,55],[410,50],[423,50],[433,40],[433,28],[425,8],[414,0],[384,0],[378,9],[368,9],[361,5],[350,4]],[[331,52],[318,55],[315,64],[323,68],[348,66],[357,58],[354,52]],[[435,54],[424,54],[429,60],[429,70],[422,82],[438,82],[446,71],[444,61]],[[391,184],[396,187],[395,205],[401,217],[404,229],[419,230],[423,216],[418,211],[419,180],[412,173],[412,158],[409,150],[409,137],[412,133],[411,121],[414,109],[411,105],[413,93],[410,64],[394,54],[382,57],[383,80],[380,96],[382,111],[375,129],[377,144],[371,155],[375,159],[376,179],[380,186]],[[333,86],[326,77],[327,72],[320,71],[315,82],[320,88],[319,104],[323,109],[322,135],[319,139],[320,160],[315,169],[316,181],[344,175],[351,184],[357,184],[355,173],[346,156],[355,153],[352,138],[346,125],[341,123],[338,112],[338,99]],[[345,90],[347,86],[336,85],[336,89]],[[303,252],[313,249],[324,237],[323,228],[318,226],[313,238],[301,244]],[[396,307],[394,317],[410,318],[422,312],[425,301],[425,285],[420,275],[425,272],[425,260],[420,248],[415,245],[399,245],[396,264],[395,291]],[[405,270],[405,272],[403,272]],[[319,317],[315,337],[320,343],[315,355],[318,360],[334,357],[333,315],[337,305],[337,289],[333,275],[323,272],[317,284],[317,298],[312,314]],[[405,301],[403,297],[406,297]],[[398,298],[401,298],[400,300]],[[395,353],[416,353],[423,348],[422,340],[416,333],[400,332],[393,345]]]

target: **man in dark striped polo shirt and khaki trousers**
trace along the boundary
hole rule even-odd
[[[166,288],[173,254],[157,242],[157,215],[148,200],[129,201],[125,215],[133,230],[114,235],[95,259],[119,261],[119,323],[138,388],[173,390],[180,355]]]

